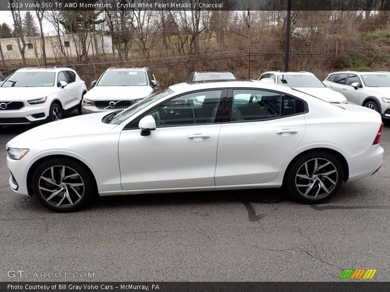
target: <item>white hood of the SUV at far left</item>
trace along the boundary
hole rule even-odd
[[[0,100],[30,100],[58,92],[58,87],[0,87]]]

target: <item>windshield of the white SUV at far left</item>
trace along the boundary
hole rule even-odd
[[[1,87],[49,87],[54,86],[56,73],[15,72],[4,81]]]

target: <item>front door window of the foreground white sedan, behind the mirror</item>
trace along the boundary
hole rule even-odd
[[[158,105],[151,114],[157,127],[194,126],[214,123],[222,90],[198,91]]]

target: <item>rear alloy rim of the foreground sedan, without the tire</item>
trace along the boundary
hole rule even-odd
[[[307,199],[328,196],[336,186],[337,168],[329,160],[314,158],[302,164],[295,175],[295,186]]]

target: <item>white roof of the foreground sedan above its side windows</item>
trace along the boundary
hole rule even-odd
[[[290,87],[282,84],[265,83],[258,80],[208,80],[195,81],[193,83],[179,83],[169,87],[175,93],[185,93],[189,91],[207,90],[207,89],[225,89],[225,88],[258,88],[265,90],[283,91],[294,94]]]

